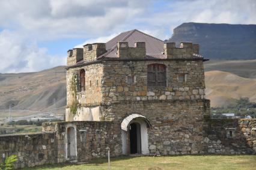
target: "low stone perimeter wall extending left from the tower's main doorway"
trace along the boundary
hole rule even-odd
[[[96,157],[119,156],[121,145],[112,122],[50,122],[43,123],[43,132],[0,135],[0,163],[16,154],[14,168],[66,162],[66,129],[76,127],[77,160],[85,162]]]

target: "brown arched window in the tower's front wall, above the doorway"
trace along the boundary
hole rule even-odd
[[[147,82],[149,87],[166,87],[166,66],[158,63],[148,65]]]

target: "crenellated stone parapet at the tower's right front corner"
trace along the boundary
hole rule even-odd
[[[192,42],[181,42],[178,48],[175,42],[165,42],[163,48],[168,59],[190,59],[193,53],[199,53],[199,45]]]

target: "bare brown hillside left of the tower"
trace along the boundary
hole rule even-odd
[[[0,74],[0,110],[54,111],[64,114],[66,70]]]

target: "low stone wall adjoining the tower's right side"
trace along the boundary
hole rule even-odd
[[[206,153],[256,153],[256,119],[209,119],[207,125]]]

